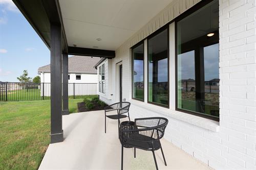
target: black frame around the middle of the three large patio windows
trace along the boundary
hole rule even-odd
[[[147,45],[147,103],[149,103],[149,104],[152,104],[152,105],[156,105],[156,106],[161,106],[161,107],[164,107],[164,108],[170,108],[170,80],[169,80],[169,70],[170,70],[170,67],[169,67],[169,60],[170,60],[170,54],[169,54],[169,25],[170,25],[170,23],[172,23],[172,21],[171,22],[168,22],[165,26],[163,26],[163,27],[161,27],[160,29],[158,29],[157,31],[155,31],[154,33],[152,33],[151,35],[149,35],[149,36],[147,36],[146,37],[146,41],[147,41],[147,43],[146,43],[146,45]],[[156,36],[157,34],[159,34],[159,33],[161,33],[161,32],[163,32],[164,30],[166,30],[167,29],[167,65],[168,65],[168,69],[167,69],[167,72],[168,72],[168,80],[167,80],[167,82],[168,82],[168,90],[167,90],[167,93],[168,93],[168,105],[163,105],[163,104],[159,104],[159,103],[155,103],[155,102],[150,102],[150,101],[148,101],[148,99],[149,99],[149,95],[148,95],[148,85],[149,85],[149,83],[148,83],[148,80],[149,80],[149,74],[148,74],[148,71],[149,71],[149,64],[148,64],[148,40],[150,40],[151,38],[153,38],[154,36]]]

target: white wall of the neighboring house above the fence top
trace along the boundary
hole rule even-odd
[[[74,74],[70,73],[69,83],[98,83],[97,74]],[[76,75],[81,75],[81,80],[76,80]],[[40,72],[41,83],[51,83],[50,72]]]

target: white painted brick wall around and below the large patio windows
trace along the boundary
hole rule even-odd
[[[188,2],[188,1],[187,1]],[[175,4],[175,3],[174,3]],[[130,115],[164,116],[169,124],[165,139],[215,169],[256,169],[256,42],[255,0],[220,0],[220,127],[210,131],[166,116],[161,110],[132,104]],[[161,14],[159,14],[161,15]],[[133,44],[127,43],[127,44]],[[131,46],[130,46],[131,47]],[[123,48],[124,49],[124,48]],[[123,64],[123,98],[131,99],[129,50],[117,53],[112,63],[115,98],[116,63]],[[149,104],[148,104],[149,105]],[[176,111],[168,110],[169,114]],[[191,116],[188,115],[187,116]],[[185,118],[185,116],[184,116]],[[165,151],[168,152],[168,151]],[[168,160],[167,160],[168,162]]]

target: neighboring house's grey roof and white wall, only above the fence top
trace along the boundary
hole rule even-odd
[[[69,57],[69,83],[98,83],[97,70],[94,65],[99,60],[99,57]],[[50,64],[39,67],[38,74],[41,83],[51,83]]]

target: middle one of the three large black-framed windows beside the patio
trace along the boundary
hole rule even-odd
[[[168,29],[147,39],[148,103],[169,107]]]

